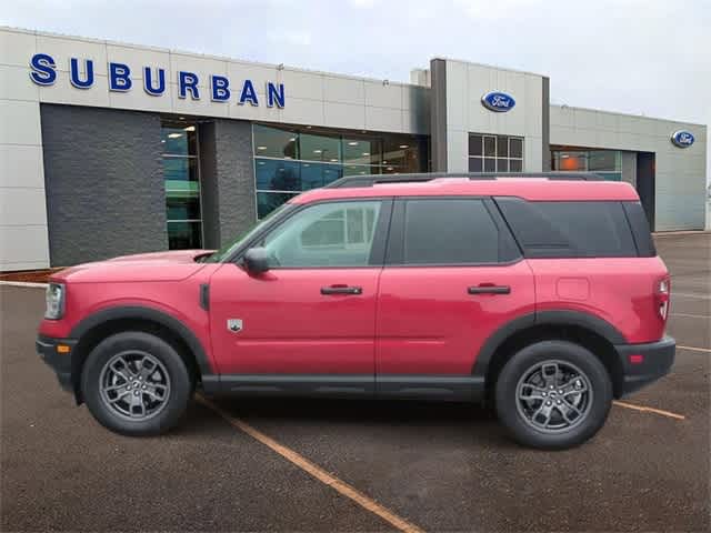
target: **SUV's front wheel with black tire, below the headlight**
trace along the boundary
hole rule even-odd
[[[112,376],[114,383],[123,383],[119,375],[133,375],[131,369],[138,366],[133,361],[134,366],[126,366],[122,372],[114,372],[108,366],[110,362],[116,362],[120,354],[147,354],[149,363],[154,362],[156,366],[150,370],[147,363],[148,374],[152,376],[158,375],[161,381],[154,381],[149,383],[151,375],[147,375],[146,385],[156,388],[158,393],[158,386],[163,386],[161,400],[153,400],[151,396],[143,395],[138,386],[138,393],[129,392],[129,386],[126,389],[119,389],[119,392],[123,395],[128,395],[127,401],[120,400],[118,408],[109,405],[111,400],[110,394],[117,394],[116,392],[107,392],[107,388],[102,385],[103,380],[107,380],[107,373]],[[123,355],[126,358],[138,358],[146,355]],[[120,364],[119,364],[120,368]],[[106,370],[104,370],[106,369]],[[158,373],[156,372],[158,370]],[[163,375],[167,374],[167,378]],[[138,375],[138,372],[136,373]],[[136,378],[138,380],[138,378]],[[141,378],[143,380],[143,376]],[[188,372],[186,363],[178,354],[178,352],[162,339],[151,335],[149,333],[140,331],[127,331],[108,336],[101,341],[89,354],[84,363],[81,373],[81,391],[83,399],[89,408],[91,414],[106,428],[123,435],[132,436],[147,436],[164,433],[173,428],[180,421],[181,416],[186,412],[188,402],[192,395],[192,379]],[[130,382],[130,380],[129,380]],[[129,383],[130,384],[130,383]],[[109,386],[109,389],[116,389],[117,386]],[[143,386],[146,389],[146,386]],[[132,389],[131,389],[132,391]],[[133,412],[133,399],[131,395],[140,396],[141,401],[144,401],[143,412],[146,416],[140,418],[139,414],[131,414]],[[149,394],[148,392],[144,394]],[[128,400],[131,400],[129,403]],[[138,402],[138,400],[137,400]],[[129,413],[121,413],[120,408],[128,404]],[[149,409],[146,405],[158,404],[152,413],[149,413]],[[140,411],[140,406],[137,404],[137,411]],[[131,416],[138,416],[138,420],[133,420]]]

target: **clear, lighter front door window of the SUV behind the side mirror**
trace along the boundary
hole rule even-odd
[[[271,268],[367,266],[380,201],[311,205],[263,241]]]

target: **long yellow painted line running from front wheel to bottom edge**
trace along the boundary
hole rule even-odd
[[[312,463],[311,461],[306,459],[303,455],[294,452],[290,447],[284,446],[283,444],[280,444],[279,442],[274,441],[271,436],[266,435],[261,431],[252,428],[247,422],[240,419],[233,418],[228,412],[226,412],[224,410],[222,410],[221,408],[219,408],[218,405],[216,405],[204,396],[200,394],[196,394],[196,400],[202,403],[206,408],[214,411],[222,419],[224,419],[230,425],[247,433],[252,439],[261,442],[267,447],[270,447],[272,451],[277,452],[279,455],[284,457],[287,461],[293,463],[294,465],[297,465],[298,467],[307,472],[309,475],[311,475],[316,480],[320,481],[324,485],[330,486],[331,489],[337,491],[339,494],[352,500],[358,505],[360,505],[367,511],[370,511],[371,513],[381,517],[385,522],[389,522],[391,525],[393,525],[398,530],[407,533],[423,533],[423,530],[421,530],[417,525],[398,516],[395,513],[393,513],[387,507],[383,507],[378,502],[368,497],[365,494],[363,494],[359,490],[349,485],[344,481],[338,479],[333,474],[329,474],[326,470],[323,470],[318,464]]]

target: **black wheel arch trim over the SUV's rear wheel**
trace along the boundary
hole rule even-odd
[[[514,334],[535,325],[577,325],[597,333],[613,346],[627,343],[624,335],[614,325],[593,314],[572,310],[537,311],[518,316],[493,332],[479,351],[472,374],[485,378],[497,350]]]

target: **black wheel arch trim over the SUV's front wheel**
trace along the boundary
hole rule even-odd
[[[190,328],[188,328],[181,320],[153,308],[143,305],[122,305],[97,311],[79,322],[79,324],[71,330],[70,336],[81,343],[81,338],[87,332],[103,323],[114,320],[148,320],[168,328],[192,351],[196,356],[196,362],[200,369],[200,374],[204,376],[213,373],[212,364],[208,359],[208,354],[206,353],[202,343],[192,333],[192,331],[190,331]]]

